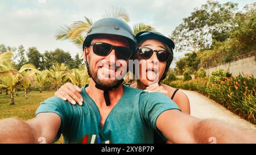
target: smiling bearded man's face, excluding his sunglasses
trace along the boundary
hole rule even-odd
[[[98,42],[129,48],[129,42],[121,36],[97,37],[91,43]],[[122,77],[126,74],[127,61],[118,60],[114,49],[108,56],[98,56],[93,52],[93,45],[90,45],[90,47],[85,47],[84,58],[85,54],[95,83],[105,87],[113,87],[122,81]]]

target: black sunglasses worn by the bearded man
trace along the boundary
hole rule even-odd
[[[93,46],[93,52],[98,56],[108,56],[113,49],[115,50],[115,56],[119,60],[129,60],[132,54],[129,48],[114,46],[108,43],[96,42],[90,45]]]

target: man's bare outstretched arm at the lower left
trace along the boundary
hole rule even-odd
[[[59,131],[61,118],[47,112],[24,122],[18,119],[0,120],[0,143],[52,143]],[[42,137],[42,139],[40,139]]]

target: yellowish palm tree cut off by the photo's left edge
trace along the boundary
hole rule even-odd
[[[1,86],[6,87],[6,89],[10,91],[11,105],[14,104],[14,93],[16,87],[19,85],[20,82],[28,79],[28,76],[26,76],[27,74],[25,73],[25,71],[27,70],[36,70],[36,68],[32,64],[25,64],[19,70],[9,69],[0,71],[0,74],[2,75],[2,80],[0,84]]]

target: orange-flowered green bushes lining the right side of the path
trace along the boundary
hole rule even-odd
[[[224,70],[216,70],[209,78],[177,80],[166,84],[179,89],[198,91],[241,118],[256,124],[255,77],[243,74],[226,77],[227,75]]]

